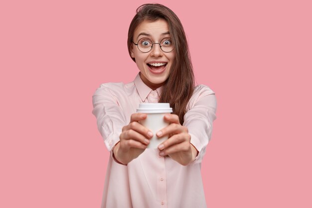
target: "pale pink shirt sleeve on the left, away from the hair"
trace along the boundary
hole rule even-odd
[[[98,130],[109,151],[119,142],[122,128],[126,125],[126,117],[119,106],[118,97],[110,89],[109,83],[102,84],[94,93],[93,115],[97,119]]]

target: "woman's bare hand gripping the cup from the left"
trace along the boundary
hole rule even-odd
[[[153,133],[144,127],[139,121],[146,119],[147,114],[134,113],[131,115],[129,125],[124,126],[120,134],[120,142],[113,149],[114,156],[122,164],[128,164],[133,159],[141,155],[150,140]]]

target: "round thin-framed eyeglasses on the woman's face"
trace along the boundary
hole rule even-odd
[[[154,44],[159,44],[160,49],[166,53],[171,52],[173,50],[173,44],[172,44],[172,40],[170,37],[162,38],[160,40],[160,43],[158,43],[158,42],[153,43],[153,41],[147,37],[142,37],[138,41],[137,44],[134,41],[132,41],[132,42],[133,42],[133,44],[138,46],[139,50],[143,53],[150,52],[152,50]]]

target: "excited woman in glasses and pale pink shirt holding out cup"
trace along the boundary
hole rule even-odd
[[[207,86],[194,87],[184,29],[161,4],[137,9],[128,49],[140,72],[131,83],[106,83],[93,96],[93,114],[111,152],[102,208],[204,208],[200,164],[216,118]],[[140,103],[170,103],[169,139],[146,149],[153,133],[140,124]],[[181,125],[183,124],[183,125]]]

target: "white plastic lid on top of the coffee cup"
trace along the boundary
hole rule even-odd
[[[141,103],[138,113],[172,113],[169,103]]]

